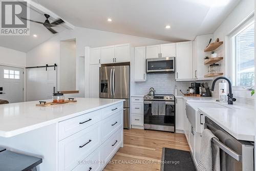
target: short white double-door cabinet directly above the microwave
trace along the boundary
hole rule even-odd
[[[175,57],[176,44],[161,44],[146,47],[146,59],[157,57]]]

